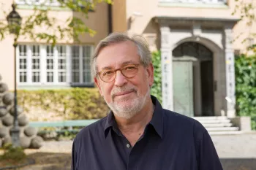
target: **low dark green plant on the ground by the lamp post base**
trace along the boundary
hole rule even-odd
[[[26,158],[22,147],[13,147],[12,144],[6,144],[3,149],[4,154],[0,156],[0,160],[23,161]]]

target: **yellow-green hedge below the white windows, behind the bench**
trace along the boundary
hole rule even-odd
[[[105,117],[109,111],[96,88],[19,90],[18,104],[26,112],[33,106],[55,112],[64,120],[98,119]]]

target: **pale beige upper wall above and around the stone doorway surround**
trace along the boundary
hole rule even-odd
[[[154,37],[152,39],[156,39],[157,34],[159,34],[157,30],[159,26],[152,20],[156,16],[239,19],[240,15],[238,13],[232,15],[235,5],[234,0],[228,1],[228,7],[225,8],[161,6],[158,0],[129,0],[127,1],[127,20],[133,18],[129,31],[151,36]],[[135,16],[133,15],[134,12],[139,12],[142,16]],[[235,40],[233,47],[235,50],[241,50],[243,52],[248,42],[242,42],[248,37],[249,33],[256,33],[256,24],[246,26],[245,21],[240,21],[236,24],[233,28],[233,38]]]

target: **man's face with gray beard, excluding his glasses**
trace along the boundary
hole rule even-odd
[[[120,42],[100,50],[97,57],[98,72],[103,69],[120,69],[128,64],[139,64],[138,48],[133,42]],[[99,75],[94,81],[106,103],[119,117],[131,118],[143,109],[146,99],[150,98],[150,87],[154,82],[152,64],[138,66],[135,77],[127,78],[116,72],[116,79],[112,82],[103,82]]]

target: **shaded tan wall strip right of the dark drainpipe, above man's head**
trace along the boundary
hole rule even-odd
[[[113,0],[112,18],[113,32],[127,31],[127,0]]]

